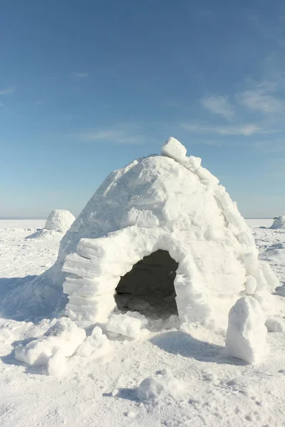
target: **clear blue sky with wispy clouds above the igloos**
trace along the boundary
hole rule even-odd
[[[170,136],[285,214],[283,1],[4,0],[0,28],[0,216],[78,214]]]

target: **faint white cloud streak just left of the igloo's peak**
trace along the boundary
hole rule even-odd
[[[142,135],[119,128],[78,132],[76,137],[85,142],[111,142],[114,144],[143,144],[145,142]]]

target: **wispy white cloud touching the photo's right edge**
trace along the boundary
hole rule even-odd
[[[264,115],[280,114],[285,110],[284,100],[272,95],[266,88],[245,90],[237,95],[237,100],[249,110],[261,112]]]

